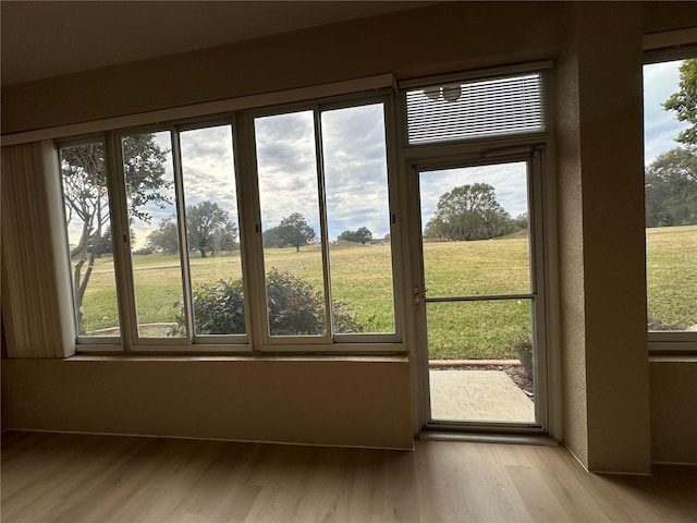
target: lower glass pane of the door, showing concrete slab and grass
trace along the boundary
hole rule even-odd
[[[535,423],[530,300],[427,303],[431,417]]]

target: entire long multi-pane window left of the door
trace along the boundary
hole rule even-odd
[[[388,102],[378,95],[59,144],[78,342],[133,351],[399,342]]]

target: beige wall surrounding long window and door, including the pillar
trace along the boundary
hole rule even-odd
[[[2,131],[376,73],[555,60],[562,325],[552,350],[562,360],[562,437],[594,470],[641,472],[650,459],[696,461],[697,428],[678,422],[697,397],[694,365],[651,364],[649,389],[640,162],[641,32],[684,27],[690,13],[624,2],[452,2],[4,88]],[[408,365],[5,361],[3,422],[404,448],[417,428]]]

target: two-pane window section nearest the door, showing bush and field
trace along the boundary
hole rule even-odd
[[[254,131],[269,335],[395,332],[383,105],[258,117]],[[314,305],[289,325],[276,307],[309,301],[292,280],[279,293],[291,275]]]

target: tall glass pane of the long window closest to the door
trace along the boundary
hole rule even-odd
[[[394,332],[383,105],[321,121],[334,332]]]

